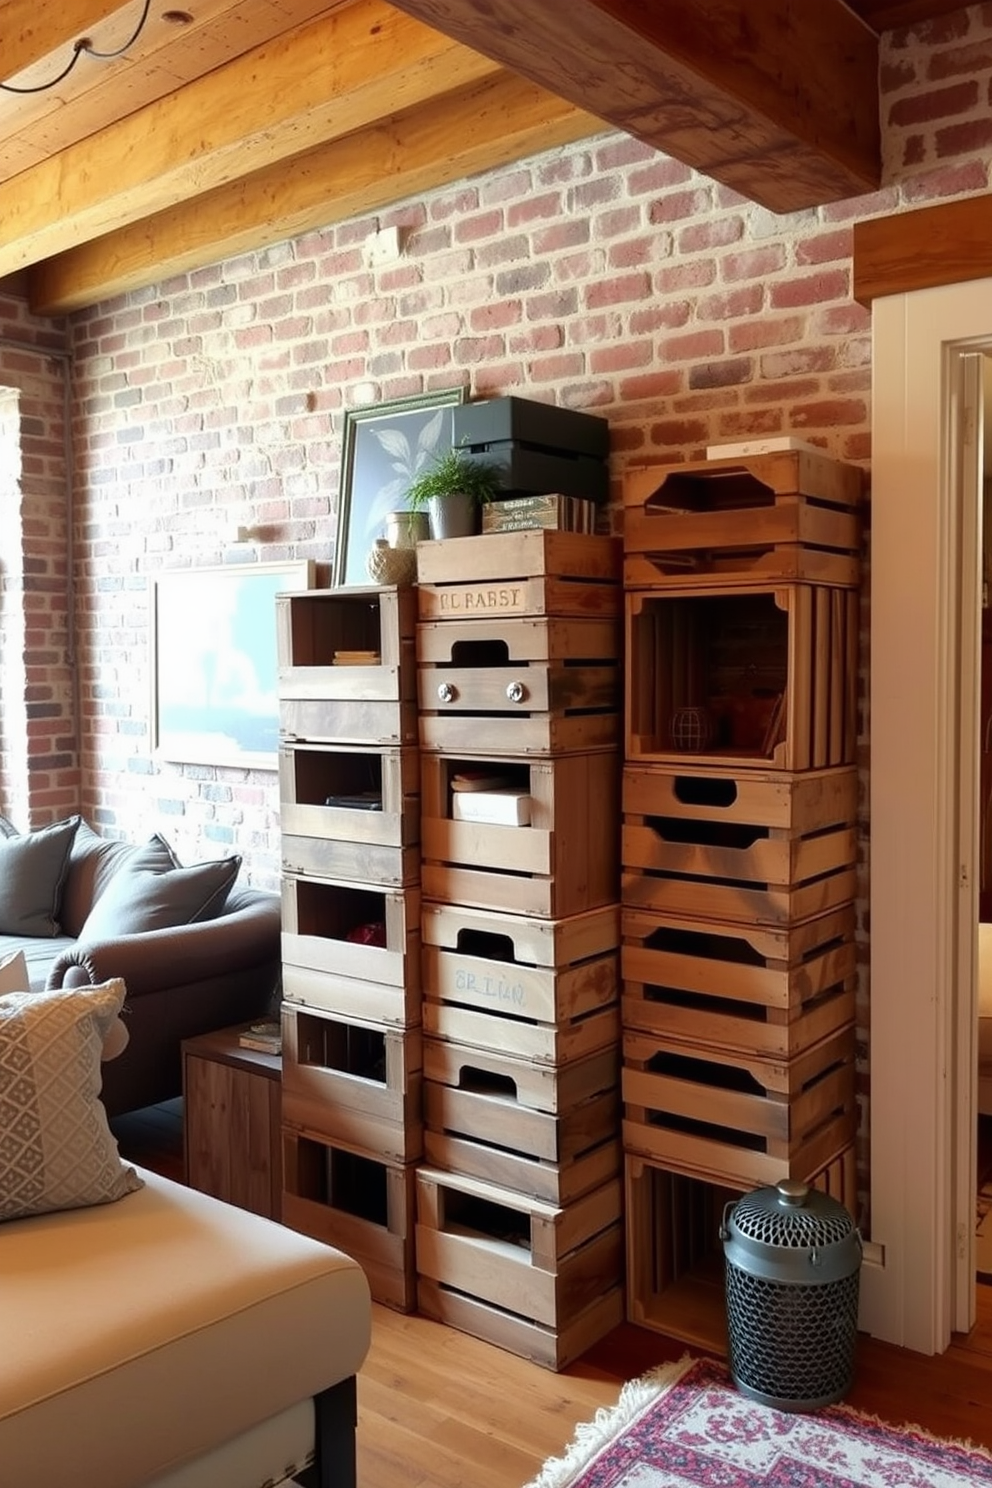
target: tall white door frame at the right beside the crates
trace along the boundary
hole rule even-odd
[[[976,1126],[977,862],[961,823],[977,799],[961,731],[977,738],[977,720],[958,433],[964,354],[991,344],[992,280],[873,304],[870,1237],[883,1263],[864,1268],[861,1326],[924,1354],[974,1311],[961,1153]]]

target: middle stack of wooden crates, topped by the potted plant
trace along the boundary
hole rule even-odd
[[[418,1302],[559,1369],[623,1315],[620,546],[421,543],[418,580]]]

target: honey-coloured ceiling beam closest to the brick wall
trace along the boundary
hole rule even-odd
[[[500,73],[36,265],[31,310],[79,310],[601,131]]]

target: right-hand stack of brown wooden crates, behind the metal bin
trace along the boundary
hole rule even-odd
[[[860,498],[799,449],[625,482],[628,1315],[709,1347],[724,1202],[855,1202]]]

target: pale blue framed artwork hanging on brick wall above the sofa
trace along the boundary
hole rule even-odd
[[[187,765],[278,765],[275,595],[314,564],[177,568],[149,579],[152,747]]]

